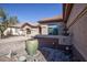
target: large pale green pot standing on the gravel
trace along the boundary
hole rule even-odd
[[[37,51],[39,42],[37,40],[29,40],[25,43],[25,48],[29,55],[34,55]]]

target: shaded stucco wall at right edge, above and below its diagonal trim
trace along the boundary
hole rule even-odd
[[[87,4],[74,4],[67,21],[67,26],[75,20],[85,7],[87,7]],[[76,23],[69,28],[69,32],[73,37],[72,43],[87,61],[87,12],[80,19],[77,19]]]

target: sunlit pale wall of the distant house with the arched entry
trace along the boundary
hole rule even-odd
[[[31,28],[31,26],[25,25],[24,28],[8,28],[4,31],[4,35],[8,35],[8,33],[10,33],[10,32],[12,35],[28,35],[26,29],[31,30],[31,33],[29,34],[30,36],[40,34],[39,28]]]

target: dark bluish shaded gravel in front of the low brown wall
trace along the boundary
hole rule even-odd
[[[41,52],[44,54],[48,62],[69,62],[70,54],[65,54],[64,51],[42,47]]]

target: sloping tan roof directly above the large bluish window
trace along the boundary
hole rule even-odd
[[[45,18],[39,21],[39,23],[51,23],[51,22],[62,22],[63,21],[63,15],[56,15],[53,18]]]

